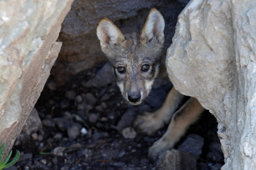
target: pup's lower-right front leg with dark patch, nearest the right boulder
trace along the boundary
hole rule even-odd
[[[173,148],[186,129],[198,119],[204,110],[197,99],[191,97],[174,113],[166,133],[149,148],[150,158],[156,160],[159,153]]]

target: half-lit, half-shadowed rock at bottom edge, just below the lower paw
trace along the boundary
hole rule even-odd
[[[157,170],[196,170],[197,160],[188,152],[172,149],[165,152],[158,162]]]

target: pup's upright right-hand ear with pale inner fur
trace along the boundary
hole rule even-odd
[[[156,38],[159,43],[163,43],[165,41],[164,29],[165,20],[163,16],[157,9],[152,8],[142,28],[140,39],[142,42],[147,42],[152,38]]]

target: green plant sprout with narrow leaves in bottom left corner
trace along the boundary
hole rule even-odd
[[[19,155],[20,155],[20,153],[18,151],[16,153],[14,159],[11,162],[9,162],[8,164],[6,164],[9,161],[9,159],[11,157],[11,154],[13,153],[13,150],[11,150],[11,152],[7,156],[6,160],[3,161],[3,163],[2,163],[3,151],[5,151],[5,143],[3,143],[1,148],[0,148],[0,170],[13,166],[18,161]]]

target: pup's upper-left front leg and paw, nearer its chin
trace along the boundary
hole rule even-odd
[[[153,113],[145,112],[143,115],[138,116],[134,120],[133,126],[138,129],[139,133],[153,136],[160,128],[169,123],[171,116],[183,98],[184,95],[174,87],[171,88],[162,107]]]

